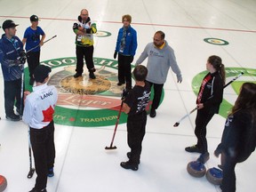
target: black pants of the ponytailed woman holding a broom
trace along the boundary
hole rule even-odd
[[[195,134],[197,138],[196,145],[202,150],[203,154],[208,152],[208,145],[206,140],[206,125],[211,121],[213,115],[213,112],[205,108],[197,110],[195,129]]]

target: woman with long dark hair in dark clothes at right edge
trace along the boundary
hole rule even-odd
[[[222,139],[214,155],[221,154],[222,192],[236,191],[237,163],[244,162],[256,146],[256,84],[244,83],[227,118]]]

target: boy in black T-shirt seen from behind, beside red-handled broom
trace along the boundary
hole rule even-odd
[[[145,81],[148,69],[145,66],[137,66],[132,72],[135,77],[135,86],[132,90],[123,93],[124,113],[127,117],[127,142],[131,151],[127,153],[129,161],[120,165],[124,169],[137,171],[140,164],[142,140],[147,124],[146,107],[150,99],[150,85]]]

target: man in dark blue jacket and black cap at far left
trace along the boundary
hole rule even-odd
[[[17,26],[13,20],[4,20],[2,25],[4,34],[0,39],[0,62],[4,76],[5,117],[11,121],[20,121],[20,115],[22,115],[21,77],[23,76],[23,68],[26,62],[23,44],[20,38],[15,36]],[[14,113],[14,106],[16,107],[16,114]]]

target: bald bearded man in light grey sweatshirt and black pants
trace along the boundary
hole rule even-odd
[[[169,68],[172,68],[172,71],[176,74],[177,82],[182,82],[180,68],[176,62],[174,51],[164,40],[164,37],[163,31],[156,31],[153,42],[146,45],[140,58],[135,63],[137,66],[148,57],[148,76],[146,80],[151,87],[154,85],[154,99],[149,115],[152,118],[156,116],[156,109],[160,103]]]

